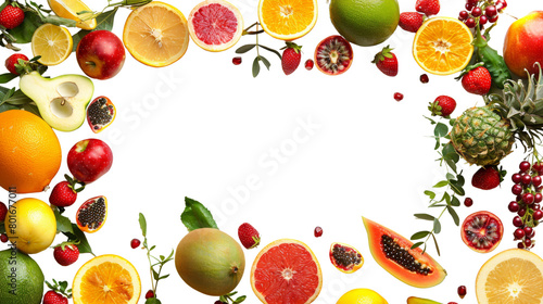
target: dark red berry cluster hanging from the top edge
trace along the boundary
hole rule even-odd
[[[473,28],[476,25],[482,28],[487,23],[495,23],[497,13],[507,7],[505,0],[466,0],[466,10],[460,11],[458,20],[467,27]]]

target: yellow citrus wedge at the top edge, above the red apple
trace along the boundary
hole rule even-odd
[[[92,13],[89,7],[80,0],[48,0],[49,8],[60,17],[76,21],[76,26],[81,29],[94,29],[97,20],[89,18]],[[87,12],[87,13],[83,13]],[[84,21],[81,21],[84,20]]]

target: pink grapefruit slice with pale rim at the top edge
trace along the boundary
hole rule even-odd
[[[231,48],[243,33],[241,13],[224,0],[200,2],[190,12],[188,25],[192,41],[211,52]]]

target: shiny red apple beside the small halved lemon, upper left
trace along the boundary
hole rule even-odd
[[[75,54],[83,72],[96,79],[109,79],[117,75],[126,58],[123,41],[109,30],[94,30],[85,35]]]

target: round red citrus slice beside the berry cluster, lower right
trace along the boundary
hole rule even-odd
[[[462,240],[471,250],[491,252],[500,244],[504,225],[500,217],[488,211],[472,213],[462,224]]]

